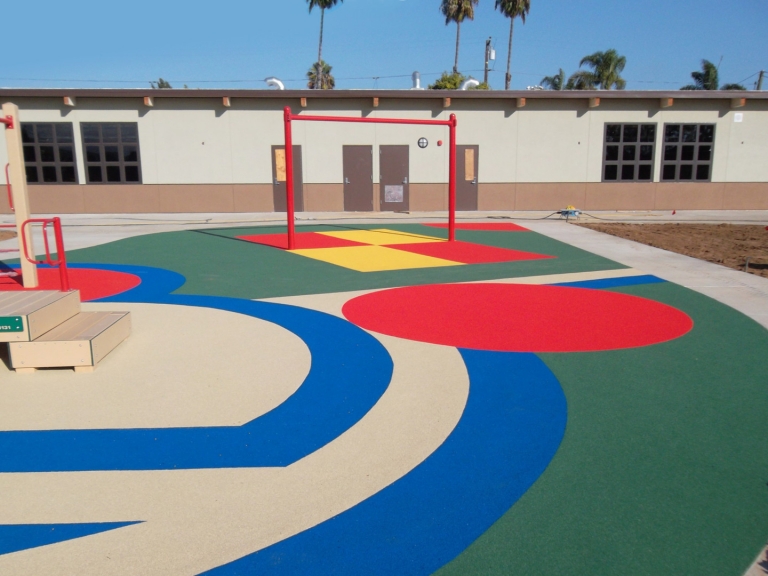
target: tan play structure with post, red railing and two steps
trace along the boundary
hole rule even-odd
[[[93,371],[130,335],[130,313],[80,310],[80,291],[70,290],[69,286],[61,220],[30,217],[18,108],[3,104],[0,123],[5,125],[9,203],[16,219],[15,224],[3,227],[16,230],[25,288],[0,292],[0,342],[8,343],[10,365],[17,373],[66,367],[74,368],[75,372]],[[44,260],[35,258],[31,228],[35,224],[42,225]],[[51,256],[48,226],[54,229],[56,259]],[[35,290],[39,286],[39,264],[58,268],[59,291]]]

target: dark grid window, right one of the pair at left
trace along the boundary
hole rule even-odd
[[[139,184],[139,127],[135,123],[82,123],[88,184]]]

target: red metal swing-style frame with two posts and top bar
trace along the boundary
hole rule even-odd
[[[285,195],[288,217],[288,249],[295,247],[293,204],[293,132],[291,122],[352,122],[360,124],[417,124],[423,126],[447,126],[449,129],[448,163],[448,240],[456,239],[456,115],[449,120],[418,120],[414,118],[350,118],[345,116],[302,116],[293,114],[289,106],[284,110],[285,120]]]

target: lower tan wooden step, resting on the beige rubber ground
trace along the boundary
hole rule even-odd
[[[11,342],[16,372],[74,367],[90,372],[131,333],[130,312],[80,312],[32,342]]]

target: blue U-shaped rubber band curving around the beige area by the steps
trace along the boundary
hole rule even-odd
[[[120,267],[126,272],[131,268]],[[147,269],[142,273],[152,274]],[[163,284],[170,279],[155,280]],[[215,308],[282,326],[309,348],[310,372],[288,400],[243,426],[2,432],[0,472],[287,466],[351,428],[391,380],[393,365],[386,349],[341,318],[282,304],[160,295],[148,286],[137,290],[126,293],[125,301],[146,298],[142,301]]]

